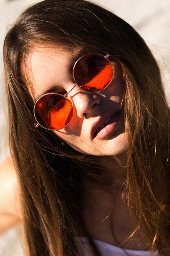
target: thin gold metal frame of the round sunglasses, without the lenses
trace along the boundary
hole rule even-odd
[[[98,54],[98,53],[91,53],[91,54],[84,54],[84,55],[82,55],[81,57],[79,57],[79,58],[77,59],[77,61],[75,62],[74,66],[73,66],[73,79],[74,79],[74,81],[75,81],[75,85],[73,86],[73,88],[71,88],[71,90],[70,90],[69,92],[67,92],[66,94],[64,94],[64,95],[63,95],[63,94],[60,94],[60,93],[57,93],[57,92],[45,93],[45,94],[43,94],[42,96],[40,96],[40,97],[35,101],[34,108],[33,108],[33,114],[34,114],[35,120],[37,121],[37,124],[36,124],[36,123],[34,124],[34,127],[35,127],[35,128],[37,128],[38,126],[42,126],[41,124],[39,124],[39,122],[38,122],[38,120],[37,120],[37,118],[36,118],[36,116],[35,116],[35,107],[36,107],[36,104],[37,104],[37,102],[38,102],[42,97],[44,97],[44,96],[46,96],[46,95],[49,95],[49,94],[57,94],[57,95],[60,95],[60,96],[62,96],[62,97],[64,97],[64,98],[66,98],[66,99],[69,101],[69,103],[71,104],[71,107],[72,107],[72,109],[73,109],[73,103],[71,102],[71,100],[68,99],[68,94],[75,88],[76,85],[78,85],[79,88],[81,88],[82,90],[85,90],[86,92],[92,92],[92,93],[101,92],[102,90],[105,90],[105,89],[108,87],[108,85],[110,85],[111,81],[113,80],[113,76],[112,76],[112,79],[110,79],[110,83],[108,83],[108,85],[107,85],[104,89],[98,90],[98,91],[88,91],[88,90],[84,89],[83,87],[81,87],[81,86],[76,82],[75,76],[74,76],[74,70],[75,70],[76,64],[78,63],[78,61],[79,61],[82,57],[84,57],[84,56],[86,56],[86,55],[92,55],[92,54],[101,55],[101,56],[103,56],[104,58],[107,58],[107,60],[108,60],[108,57],[110,56],[110,54],[106,54],[106,55],[104,56],[104,55]],[[112,67],[112,70],[113,70],[112,63],[111,63],[109,60],[108,60],[108,63],[110,63],[110,65],[111,65],[111,67]],[[74,110],[73,110],[73,114],[74,114]],[[72,115],[72,117],[71,117],[71,120],[72,120],[72,119],[73,119],[73,115]],[[68,124],[70,124],[71,120],[69,121]],[[66,124],[66,126],[68,126],[68,124]],[[60,129],[49,129],[49,128],[46,128],[46,127],[44,127],[44,126],[42,126],[42,128],[44,128],[44,129],[46,129],[46,130],[61,130],[61,129],[65,128],[66,126],[60,128]]]

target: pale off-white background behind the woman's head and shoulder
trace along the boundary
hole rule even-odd
[[[93,1],[93,0],[92,0]],[[18,14],[37,0],[0,0],[0,161],[8,155],[7,103],[3,76],[2,45],[6,31]],[[170,0],[95,0],[126,20],[141,34],[157,59],[170,99]],[[0,238],[0,256],[22,256],[18,229]]]

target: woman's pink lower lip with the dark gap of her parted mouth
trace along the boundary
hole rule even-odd
[[[120,116],[120,111],[110,116],[110,118],[108,118],[105,121],[105,124],[102,124],[97,128],[94,138],[104,139],[105,137],[113,133],[113,131],[117,126],[119,116]]]

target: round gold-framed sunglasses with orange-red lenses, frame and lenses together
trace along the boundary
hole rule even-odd
[[[68,94],[78,85],[88,92],[104,90],[113,79],[113,67],[108,60],[109,54],[85,54],[73,66],[73,88],[62,95],[46,93],[34,105],[35,127],[42,126],[48,130],[60,130],[66,127],[73,118],[73,105]]]

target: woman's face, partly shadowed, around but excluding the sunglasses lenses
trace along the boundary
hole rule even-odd
[[[78,49],[33,47],[26,77],[34,101],[47,91],[65,94],[73,88],[72,69],[79,53]],[[127,148],[122,69],[119,63],[110,61],[114,71],[110,85],[101,92],[87,92],[75,86],[68,94],[73,102],[73,119],[65,128],[54,131],[72,148],[89,155],[120,155]]]

